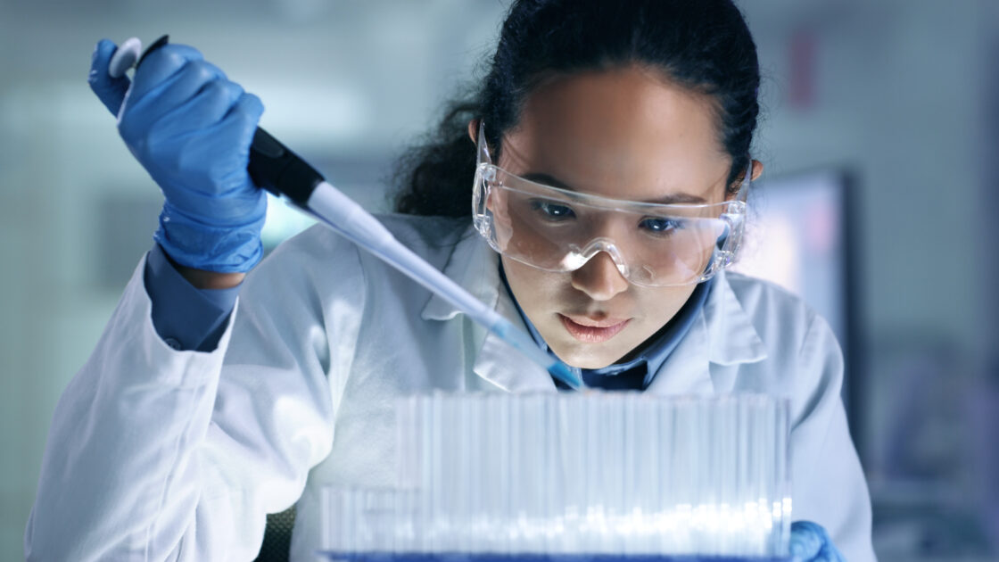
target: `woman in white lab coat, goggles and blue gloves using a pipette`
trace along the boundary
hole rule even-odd
[[[248,560],[265,515],[297,504],[292,559],[312,559],[324,485],[394,481],[396,397],[555,391],[326,228],[246,275],[262,254],[246,171],[260,100],[190,47],[156,50],[131,83],[108,76],[114,51],[98,44],[90,84],[166,202],[58,404],[28,558]],[[517,0],[476,97],[409,161],[406,214],[383,220],[587,386],[790,396],[793,513],[817,524],[806,556],[872,560],[832,332],[728,260],[708,265],[720,213],[762,171],[758,84],[730,0]],[[684,213],[705,226],[662,218]]]

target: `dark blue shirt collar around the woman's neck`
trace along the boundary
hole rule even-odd
[[[506,282],[506,274],[503,272],[501,264],[500,279],[502,279],[503,286],[506,287],[506,292],[509,294],[510,299],[516,304],[516,310],[520,313],[520,318],[523,319],[523,323],[527,326],[530,336],[534,338],[534,342],[549,355],[556,357],[537,332],[537,328],[527,319],[523,310],[520,309],[520,305],[517,304],[516,298],[513,297],[513,293],[509,289],[509,284]],[[687,302],[680,307],[665,326],[649,339],[645,340],[632,359],[623,363],[607,365],[600,369],[580,369],[572,366],[569,366],[569,368],[589,388],[602,388],[604,390],[644,390],[648,388],[648,385],[652,383],[652,379],[655,378],[655,373],[658,372],[659,368],[669,357],[669,354],[672,353],[673,349],[680,343],[680,340],[683,339],[683,336],[690,330],[690,326],[693,325],[697,314],[704,308],[704,302],[707,300],[707,294],[711,290],[712,281],[713,278],[698,284],[690,294]],[[555,380],[555,386],[562,390],[568,390],[568,387],[559,380]]]

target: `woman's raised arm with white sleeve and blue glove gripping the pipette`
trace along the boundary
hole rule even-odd
[[[259,100],[180,45],[150,55],[134,83],[109,80],[113,51],[98,45],[91,86],[166,196],[157,241],[195,284],[241,278],[262,253],[266,198],[246,174]],[[154,326],[145,264],[136,271],[57,406],[25,533],[29,559],[256,553],[264,514],[295,501],[331,441],[329,340],[315,337],[325,319],[315,287],[287,275],[290,267],[248,281],[246,310],[229,315],[223,306],[222,333],[209,327],[190,346],[204,351],[175,349],[157,334],[166,328]],[[275,294],[281,306],[269,306]]]

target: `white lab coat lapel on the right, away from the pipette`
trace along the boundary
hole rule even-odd
[[[735,369],[719,366],[754,363],[766,349],[724,273],[715,277],[704,308],[690,330],[663,362],[646,392],[656,395],[728,392]]]

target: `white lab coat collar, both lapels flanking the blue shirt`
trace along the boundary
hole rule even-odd
[[[444,274],[479,300],[494,307],[519,329],[526,330],[509,295],[502,290],[499,257],[470,226],[452,252]],[[462,312],[438,295],[423,310],[426,320],[451,320]],[[510,392],[550,391],[555,386],[547,371],[513,351],[498,336],[476,326],[482,345],[473,370]],[[734,380],[709,364],[737,365],[766,358],[766,348],[742,308],[725,273],[719,273],[707,302],[689,332],[662,364],[646,392],[653,394],[710,394],[731,390]]]

